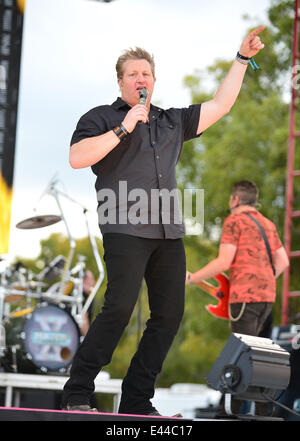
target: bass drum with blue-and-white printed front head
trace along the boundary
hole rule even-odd
[[[80,343],[73,317],[54,305],[40,305],[5,325],[4,369],[20,373],[67,371]]]

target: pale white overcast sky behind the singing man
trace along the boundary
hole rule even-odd
[[[95,176],[71,168],[69,144],[81,115],[119,96],[115,64],[124,49],[141,46],[154,55],[155,104],[185,107],[191,97],[184,77],[217,58],[233,60],[247,29],[268,24],[270,1],[27,0],[8,257],[35,258],[41,239],[67,235],[63,222],[16,228],[32,216],[60,215],[47,191],[53,178],[72,237],[87,235],[83,206],[99,236]]]

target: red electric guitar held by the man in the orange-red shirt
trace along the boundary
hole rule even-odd
[[[218,286],[214,286],[205,280],[195,283],[195,285],[218,300],[217,305],[206,305],[207,311],[215,317],[229,320],[229,279],[224,273],[218,274],[214,279],[218,281]]]

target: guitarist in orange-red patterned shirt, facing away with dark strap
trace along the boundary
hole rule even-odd
[[[255,336],[271,313],[276,297],[275,279],[289,265],[275,225],[255,208],[257,199],[254,183],[240,181],[233,186],[231,214],[223,225],[218,257],[186,276],[186,283],[193,284],[229,269],[232,332]]]

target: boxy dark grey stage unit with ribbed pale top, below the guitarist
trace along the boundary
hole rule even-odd
[[[290,380],[290,354],[268,338],[231,334],[207,376],[213,389],[241,400],[267,402]]]

